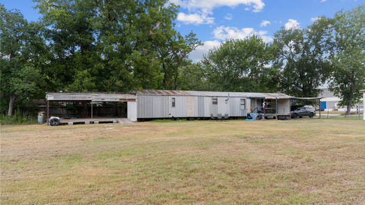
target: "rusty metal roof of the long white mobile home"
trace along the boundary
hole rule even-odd
[[[205,97],[247,97],[247,98],[272,98],[292,99],[293,97],[283,93],[263,92],[211,92],[211,91],[189,91],[189,90],[141,90],[137,95],[187,95]]]

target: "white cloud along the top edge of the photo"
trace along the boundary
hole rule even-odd
[[[235,7],[238,5],[252,6],[254,12],[263,10],[263,0],[170,0],[171,3],[182,6],[189,10],[213,10],[221,6]]]

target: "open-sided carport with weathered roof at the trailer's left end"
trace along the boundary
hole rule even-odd
[[[57,113],[63,117],[61,123],[99,123],[99,122],[123,122],[123,119],[127,119],[130,121],[137,121],[137,97],[134,93],[104,93],[104,92],[47,92],[46,94],[47,101],[47,124],[49,124],[49,117],[52,116],[52,112]],[[70,104],[78,104],[78,109],[75,109],[75,112],[69,112],[65,108],[61,108],[59,110],[50,109],[50,103],[63,103],[66,107]],[[123,112],[118,111],[118,113],[112,113],[104,111],[102,114],[98,114],[98,106],[102,108],[102,106],[107,104],[116,105],[116,109],[118,110],[118,105],[122,105]],[[81,109],[80,109],[81,107]],[[84,108],[82,108],[84,107]],[[111,107],[111,106],[109,106]],[[115,107],[115,106],[114,106]],[[80,111],[81,110],[81,111]],[[110,110],[110,109],[109,109]],[[123,113],[120,114],[120,113]],[[63,115],[63,116],[61,116]],[[64,117],[67,116],[67,117]]]

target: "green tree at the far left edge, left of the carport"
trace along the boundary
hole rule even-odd
[[[41,26],[28,23],[17,10],[0,5],[0,89],[8,97],[8,115],[16,101],[26,103],[42,92],[45,42]],[[3,106],[3,105],[2,105]]]

